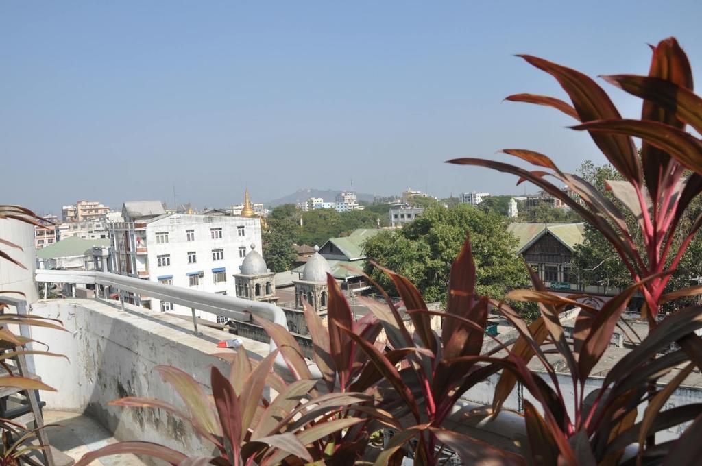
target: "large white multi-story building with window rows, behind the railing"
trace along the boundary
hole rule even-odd
[[[252,244],[261,251],[259,218],[159,215],[156,204],[153,208],[147,204],[151,202],[125,203],[123,211],[133,215],[125,215],[126,222],[110,225],[112,272],[198,291],[236,295],[232,276],[239,273]],[[141,215],[144,212],[147,215]],[[162,312],[191,313],[190,308],[133,293],[124,293],[121,298]],[[217,319],[204,312],[200,317]]]

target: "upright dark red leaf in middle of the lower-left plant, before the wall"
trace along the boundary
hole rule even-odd
[[[239,455],[239,441],[243,437],[241,435],[239,399],[232,384],[215,366],[212,366],[211,370],[211,385],[212,397],[222,425],[227,455],[230,457],[230,461],[234,462],[234,458]]]

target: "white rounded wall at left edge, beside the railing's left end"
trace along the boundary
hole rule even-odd
[[[0,258],[0,290],[22,291],[28,302],[39,299],[37,286],[34,284],[34,269],[37,267],[34,249],[34,226],[18,220],[0,219],[0,238],[22,246],[17,248],[0,243],[0,251],[18,260],[26,269]],[[8,295],[21,298],[21,295]]]

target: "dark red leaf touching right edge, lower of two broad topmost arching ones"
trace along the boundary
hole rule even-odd
[[[677,129],[655,121],[630,119],[590,121],[572,127],[591,133],[618,133],[641,138],[668,152],[674,159],[696,173],[702,173],[702,142]]]

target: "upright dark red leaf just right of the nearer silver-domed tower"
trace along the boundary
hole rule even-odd
[[[329,288],[329,303],[326,308],[329,321],[329,349],[336,364],[340,384],[346,387],[351,366],[355,360],[355,348],[341,328],[353,328],[353,314],[336,280],[329,273],[326,274],[326,285]]]

